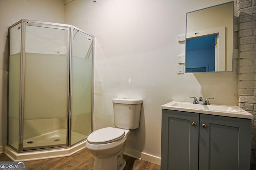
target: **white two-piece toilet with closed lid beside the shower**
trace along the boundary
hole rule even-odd
[[[142,100],[113,98],[116,128],[102,128],[92,132],[86,148],[95,156],[93,170],[123,170],[125,142],[130,130],[140,125]]]

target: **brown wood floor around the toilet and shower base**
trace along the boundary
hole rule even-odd
[[[144,160],[126,155],[124,159],[126,160],[124,170],[160,170],[160,166]],[[0,161],[12,160],[5,154],[0,154]],[[85,148],[67,157],[26,161],[26,170],[92,170],[93,164],[93,155]]]

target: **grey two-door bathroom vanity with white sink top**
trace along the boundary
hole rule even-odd
[[[252,114],[176,101],[161,108],[161,170],[250,170]]]

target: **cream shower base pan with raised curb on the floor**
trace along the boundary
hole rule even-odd
[[[53,140],[56,140],[56,144],[62,142],[62,140],[66,140],[66,136],[64,136],[64,130],[57,130],[48,134],[43,134],[40,136],[36,136],[34,138],[26,139],[24,140],[24,148],[26,147],[34,147],[34,146],[42,146],[42,144],[46,144],[47,142],[52,142]],[[87,136],[84,136],[82,134],[78,134],[76,132],[72,132],[72,139],[74,142],[79,142],[82,138],[86,138]],[[44,140],[42,140],[44,139]],[[27,143],[27,141],[34,141],[31,143]],[[44,143],[42,142],[44,141]],[[29,160],[40,160],[40,159],[48,159],[48,158],[58,158],[58,157],[64,157],[64,156],[70,156],[82,149],[85,148],[86,141],[80,142],[78,144],[75,144],[74,146],[70,148],[62,148],[62,149],[56,149],[52,148],[52,150],[44,150],[44,151],[31,151],[31,152],[23,152],[23,153],[17,153],[15,150],[13,150],[9,146],[4,147],[4,154],[8,156],[12,161],[29,161]]]

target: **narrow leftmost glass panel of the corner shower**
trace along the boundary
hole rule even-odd
[[[21,23],[10,29],[10,57],[8,82],[8,143],[19,147],[19,119],[20,119],[20,45]]]

